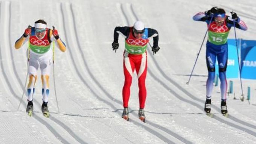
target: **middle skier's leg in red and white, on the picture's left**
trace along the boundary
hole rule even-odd
[[[123,55],[123,74],[125,76],[125,82],[123,85],[123,107],[128,108],[128,102],[130,98],[130,87],[133,78],[133,71],[134,71],[134,61],[130,54],[124,53]]]

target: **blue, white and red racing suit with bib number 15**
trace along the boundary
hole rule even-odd
[[[226,80],[226,69],[228,59],[228,46],[227,37],[234,21],[227,15],[225,15],[224,23],[218,26],[214,21],[210,21],[211,17],[206,16],[204,12],[199,12],[194,15],[193,20],[205,21],[208,29],[208,41],[206,44],[206,64],[208,68],[208,79],[206,82],[206,98],[211,99],[213,81],[215,77],[215,63],[216,58],[219,64],[219,79],[221,81],[221,100],[226,101],[227,96],[227,80]],[[241,30],[247,30],[246,24],[238,18],[235,20],[235,27]]]

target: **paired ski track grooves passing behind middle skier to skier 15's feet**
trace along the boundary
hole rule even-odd
[[[134,9],[133,9],[133,6],[132,6],[132,5],[131,5],[131,9],[132,9],[132,11],[133,11],[133,14],[136,15],[135,12],[134,12]],[[137,16],[135,16],[135,17],[136,17],[136,20],[139,20],[139,18],[138,18]],[[147,49],[147,50],[148,50],[148,49]],[[157,61],[154,59],[152,53],[151,53],[151,52],[148,52],[148,53],[149,53],[149,55],[152,57],[152,60],[153,60],[153,62],[154,62],[154,64],[155,64],[155,66],[157,67],[158,71],[160,71],[160,73],[162,74],[162,76],[163,76],[166,80],[168,80],[169,82],[171,82],[174,86],[176,86],[178,89],[180,89],[183,93],[185,93],[185,94],[186,94],[187,96],[189,96],[191,99],[196,100],[196,101],[198,101],[198,102],[200,102],[200,103],[204,103],[203,100],[198,99],[197,97],[195,97],[194,95],[192,95],[190,92],[188,92],[186,89],[184,89],[182,86],[180,86],[177,82],[175,82],[175,81],[172,80],[170,77],[168,77],[168,76],[162,71],[162,69],[161,69],[160,66],[158,65]],[[197,104],[197,103],[195,103],[195,102],[192,102],[192,101],[190,101],[190,100],[186,100],[186,99],[184,99],[183,97],[181,97],[180,95],[178,95],[175,91],[173,91],[171,88],[169,88],[169,86],[167,86],[162,80],[160,80],[160,79],[158,79],[156,76],[154,76],[150,69],[148,69],[148,70],[149,70],[149,73],[151,74],[151,76],[154,77],[154,79],[156,79],[158,82],[160,82],[160,83],[163,85],[163,87],[166,88],[169,92],[171,92],[175,97],[177,97],[177,98],[180,99],[181,101],[184,101],[184,102],[186,102],[186,103],[189,103],[189,104],[191,104],[191,105],[194,105],[194,106],[196,106],[196,107],[199,108],[199,109],[203,109],[203,106],[201,106],[201,105],[199,105],[199,104]],[[215,105],[212,105],[212,108],[214,108],[216,111],[220,111],[220,108],[218,108],[218,107],[215,106]],[[244,128],[244,127],[242,127],[242,126],[238,126],[238,125],[236,125],[236,124],[234,124],[234,123],[230,123],[229,121],[223,120],[222,118],[219,118],[219,117],[218,117],[218,118],[217,118],[217,117],[213,117],[213,118],[214,118],[215,120],[221,122],[221,123],[225,123],[225,124],[227,124],[227,125],[229,125],[229,126],[231,126],[231,127],[234,127],[234,128],[239,129],[239,130],[241,130],[241,131],[247,132],[248,134],[253,135],[254,137],[256,137],[256,132],[253,132],[252,130],[249,130],[249,129]],[[247,122],[245,122],[245,121],[239,120],[238,118],[235,118],[235,117],[233,117],[233,116],[230,115],[230,114],[229,114],[228,118],[231,119],[231,120],[233,120],[233,121],[235,121],[235,122],[237,122],[237,123],[240,123],[240,124],[242,124],[242,125],[245,125],[245,126],[248,126],[248,127],[253,128],[253,129],[256,129],[256,126],[254,126],[253,124],[250,124],[250,123],[247,123]]]

